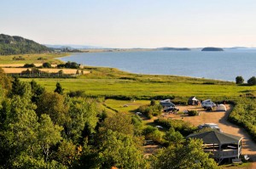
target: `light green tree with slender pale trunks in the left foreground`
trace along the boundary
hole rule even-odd
[[[41,115],[40,127],[38,128],[39,145],[43,150],[44,160],[49,160],[49,148],[61,141],[62,127],[55,125],[49,115]]]

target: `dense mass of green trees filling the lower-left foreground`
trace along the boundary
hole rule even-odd
[[[160,132],[137,115],[108,116],[98,99],[66,94],[59,82],[47,92],[0,70],[0,85],[0,168],[218,168],[177,125]],[[164,147],[145,158],[145,138]]]

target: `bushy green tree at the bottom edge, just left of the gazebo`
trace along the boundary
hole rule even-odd
[[[189,139],[185,144],[171,144],[152,155],[151,165],[155,169],[217,169],[218,164],[204,152],[202,144],[198,139]]]

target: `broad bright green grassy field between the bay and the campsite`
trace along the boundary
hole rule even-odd
[[[96,79],[96,78],[75,79],[35,79],[39,84],[46,87],[47,90],[53,91],[55,83],[61,82],[65,92],[82,90],[86,94],[93,96],[137,96],[137,97],[154,97],[157,95],[174,95],[176,99],[187,100],[188,97],[195,95],[199,99],[234,99],[245,93],[256,93],[256,86],[237,86],[234,83],[204,84],[207,80],[194,82],[194,80],[182,80],[175,77],[173,80],[166,82],[154,82],[131,79]],[[91,76],[90,74],[88,76]],[[181,77],[183,78],[183,77]],[[153,78],[152,78],[153,79]],[[22,79],[28,82],[31,79]]]

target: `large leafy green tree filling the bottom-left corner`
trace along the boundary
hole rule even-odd
[[[36,106],[20,96],[6,100],[2,106],[0,159],[5,166],[12,166],[19,155],[38,154],[38,116]]]

